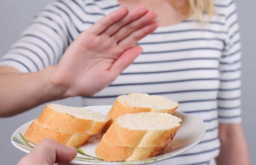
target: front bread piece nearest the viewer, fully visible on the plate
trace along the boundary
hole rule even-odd
[[[107,161],[155,157],[174,138],[181,123],[181,118],[166,113],[121,115],[103,135],[95,154]]]

